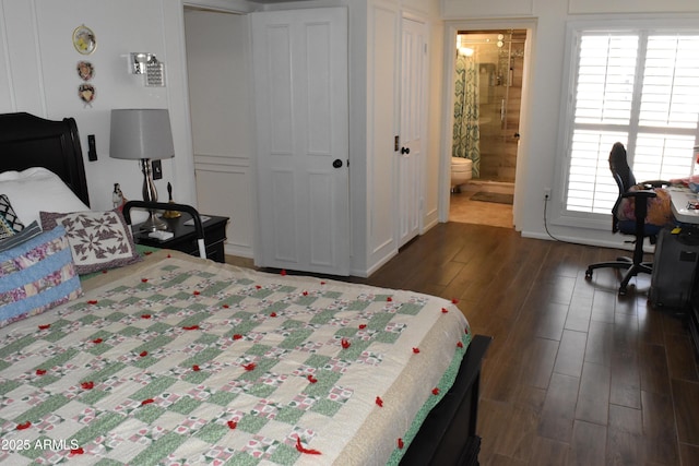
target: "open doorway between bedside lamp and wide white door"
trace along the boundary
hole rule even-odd
[[[236,11],[183,7],[198,208],[226,216],[226,254],[253,255],[254,132],[249,22]]]

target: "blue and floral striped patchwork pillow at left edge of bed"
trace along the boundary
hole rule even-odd
[[[63,227],[0,252],[0,327],[82,294]]]

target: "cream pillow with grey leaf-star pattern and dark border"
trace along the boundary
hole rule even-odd
[[[85,211],[71,214],[39,212],[42,227],[61,225],[70,242],[79,275],[141,261],[121,212]]]

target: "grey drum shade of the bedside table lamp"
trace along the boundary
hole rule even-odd
[[[111,110],[109,157],[138,160],[174,156],[173,130],[167,109]]]

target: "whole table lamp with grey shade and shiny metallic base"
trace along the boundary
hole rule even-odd
[[[109,157],[141,162],[144,201],[157,201],[151,159],[174,156],[173,131],[167,109],[111,110]],[[141,225],[141,229],[164,230],[167,229],[167,224],[157,218],[155,211],[152,210],[149,212],[149,219]]]

